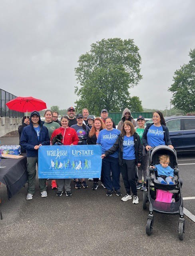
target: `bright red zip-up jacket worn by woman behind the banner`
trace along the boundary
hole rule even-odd
[[[79,138],[76,134],[76,130],[74,130],[73,128],[67,127],[67,128],[63,128],[62,126],[56,130],[54,130],[54,132],[52,133],[52,137],[51,140],[58,134],[62,134],[63,139],[61,140],[63,145],[70,145],[70,144],[74,144],[77,145]]]

